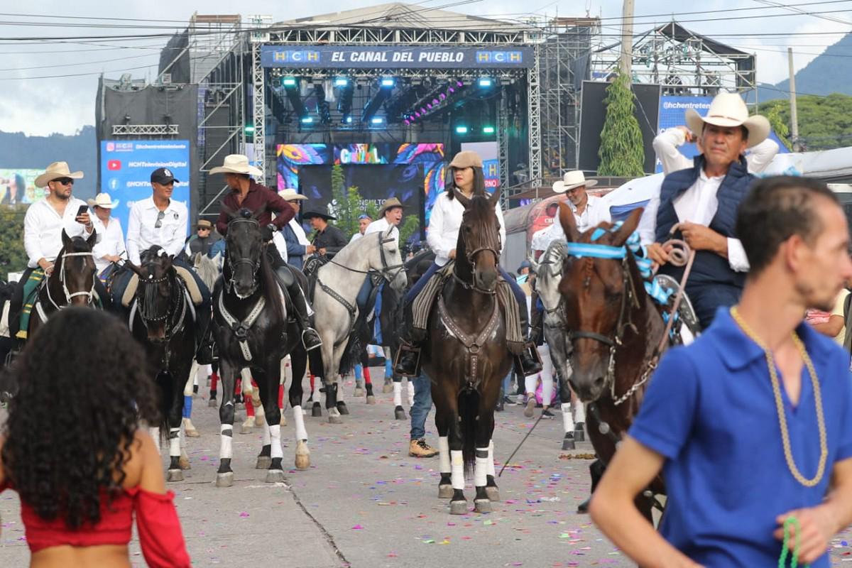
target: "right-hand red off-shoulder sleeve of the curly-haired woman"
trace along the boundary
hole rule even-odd
[[[142,554],[151,568],[189,568],[192,565],[174,499],[171,491],[160,495],[135,490],[136,530]]]

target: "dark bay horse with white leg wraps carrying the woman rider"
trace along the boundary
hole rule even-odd
[[[513,355],[497,296],[500,224],[494,211],[499,192],[487,198],[455,197],[464,206],[452,276],[429,313],[423,370],[434,387],[435,427],[440,447],[439,498],[450,513],[468,513],[465,473],[474,473],[475,511],[488,513],[499,500],[494,480],[494,409]]]

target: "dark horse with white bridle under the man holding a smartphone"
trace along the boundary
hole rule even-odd
[[[38,328],[47,323],[51,313],[63,307],[95,306],[97,268],[92,247],[95,246],[96,238],[94,229],[88,238],[71,238],[65,229],[62,230],[62,248],[56,255],[54,271],[38,289],[27,325],[27,337],[32,337]],[[109,298],[101,298],[101,301],[108,302]]]

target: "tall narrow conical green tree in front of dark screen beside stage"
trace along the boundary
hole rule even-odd
[[[635,95],[630,90],[630,77],[621,75],[607,87],[607,118],[601,131],[598,175],[638,177],[644,174],[645,152],[642,130],[634,112]]]

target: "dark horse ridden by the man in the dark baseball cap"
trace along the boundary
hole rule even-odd
[[[183,391],[195,356],[193,301],[186,284],[172,264],[174,257],[158,245],[142,252],[140,266],[124,266],[139,277],[130,303],[130,333],[145,348],[148,370],[159,390],[162,422],[152,427],[154,439],[160,428],[169,432],[168,481],[182,481],[181,422]]]

